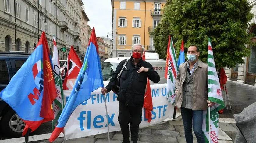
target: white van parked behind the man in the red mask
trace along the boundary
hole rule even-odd
[[[150,53],[151,54],[151,53]],[[116,70],[117,65],[126,59],[130,59],[131,57],[119,57],[119,58],[108,58],[104,62],[101,63],[102,67],[102,75],[104,81],[109,81],[112,77],[114,71]],[[157,84],[167,83],[165,78],[165,60],[161,60],[155,56],[154,58],[148,57],[146,55],[146,61],[149,62],[155,71],[160,75],[160,81]],[[150,81],[150,84],[155,84]]]

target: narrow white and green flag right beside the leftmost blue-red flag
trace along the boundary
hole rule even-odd
[[[52,64],[53,64],[53,76],[55,81],[55,88],[57,92],[57,97],[54,99],[52,106],[53,106],[53,114],[54,119],[52,120],[52,129],[58,125],[58,119],[62,112],[62,109],[64,108],[64,95],[63,95],[63,88],[62,88],[62,80],[61,80],[61,74],[59,70],[59,53],[57,49],[56,39],[55,36],[52,36],[53,38],[53,58],[52,58]]]

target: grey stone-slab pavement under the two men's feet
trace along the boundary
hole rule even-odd
[[[236,137],[237,127],[235,124],[219,123],[219,143],[233,143]],[[194,142],[196,142],[193,133]],[[120,131],[110,133],[111,143],[121,143],[122,134]],[[48,143],[48,140],[34,141],[33,143]],[[58,138],[55,143],[108,143],[108,134],[93,135],[84,138],[76,138],[64,141]],[[164,121],[146,128],[140,128],[138,143],[186,143],[184,127],[181,117],[176,121]]]

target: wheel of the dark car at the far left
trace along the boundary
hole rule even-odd
[[[1,120],[1,129],[6,136],[10,138],[22,137],[25,123],[13,110],[9,110]]]

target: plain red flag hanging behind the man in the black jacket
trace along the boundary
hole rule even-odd
[[[145,52],[142,55],[142,60],[146,60]],[[151,120],[152,120],[152,113],[151,113],[151,111],[153,110],[153,102],[152,102],[152,95],[151,95],[151,88],[150,88],[149,79],[147,81],[147,86],[146,86],[146,90],[145,90],[143,106],[144,106],[144,108],[146,110],[145,111],[146,112],[145,118],[148,119],[148,122],[151,122]]]

